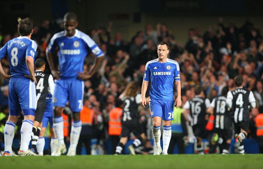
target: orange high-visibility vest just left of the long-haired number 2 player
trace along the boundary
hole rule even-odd
[[[110,111],[110,119],[109,119],[110,136],[121,135],[121,115],[122,115],[122,109],[119,107],[116,107]]]

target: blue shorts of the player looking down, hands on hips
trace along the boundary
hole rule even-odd
[[[64,107],[69,102],[71,112],[80,112],[83,107],[84,81],[60,79],[55,82],[53,105]]]

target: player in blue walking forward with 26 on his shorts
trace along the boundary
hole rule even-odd
[[[180,68],[176,61],[168,59],[169,44],[167,42],[159,42],[157,45],[158,58],[147,62],[145,66],[145,74],[142,82],[142,96],[140,104],[145,107],[149,80],[151,81],[150,89],[150,111],[152,115],[152,133],[156,143],[154,155],[167,155],[167,150],[171,140],[171,120],[173,120],[174,105],[180,107],[181,101],[181,82]],[[173,86],[177,89],[177,97],[175,98]],[[160,145],[161,138],[161,119],[163,125],[163,150]]]

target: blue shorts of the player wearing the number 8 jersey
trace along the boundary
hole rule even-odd
[[[34,115],[37,108],[35,83],[26,77],[11,77],[9,81],[9,114]]]

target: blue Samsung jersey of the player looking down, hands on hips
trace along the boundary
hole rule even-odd
[[[47,47],[51,53],[55,47],[59,47],[59,72],[63,78],[76,78],[78,72],[83,72],[84,59],[90,50],[96,57],[104,53],[98,45],[85,33],[75,29],[75,35],[68,37],[66,31],[54,34]]]

